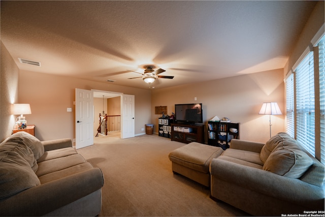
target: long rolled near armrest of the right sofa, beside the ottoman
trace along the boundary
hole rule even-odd
[[[213,159],[210,164],[211,176],[242,188],[250,189],[278,200],[301,204],[305,207],[321,207],[324,203],[322,187],[309,184],[297,178],[233,162]]]

